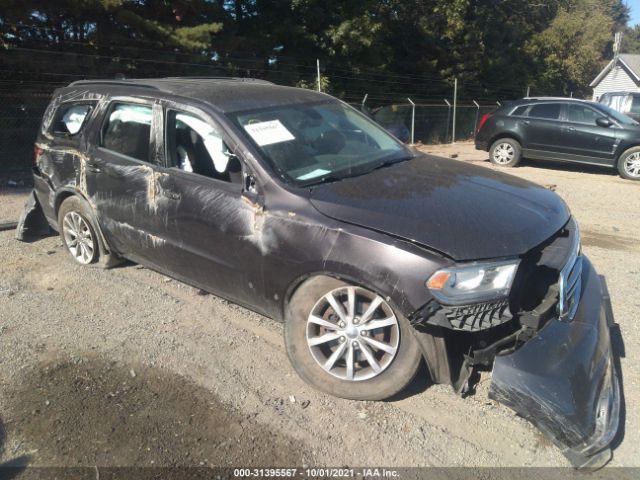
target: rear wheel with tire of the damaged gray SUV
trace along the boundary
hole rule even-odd
[[[58,210],[58,232],[67,252],[81,265],[96,263],[100,239],[89,207],[78,197],[69,197]]]

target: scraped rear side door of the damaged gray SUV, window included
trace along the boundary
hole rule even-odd
[[[157,237],[163,200],[152,135],[159,108],[153,100],[111,101],[84,165],[84,188],[110,245],[136,261],[155,261],[165,248]]]

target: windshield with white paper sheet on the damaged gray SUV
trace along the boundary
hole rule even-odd
[[[362,175],[412,156],[374,122],[339,102],[240,112],[232,120],[278,175],[298,186]]]

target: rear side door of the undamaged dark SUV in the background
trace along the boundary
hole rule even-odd
[[[525,156],[553,158],[562,145],[561,102],[545,102],[531,106],[522,122]]]

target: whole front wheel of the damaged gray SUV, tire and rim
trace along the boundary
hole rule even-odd
[[[350,289],[355,299],[353,317]],[[329,305],[329,293],[342,307],[344,317],[354,318],[355,322],[348,321],[340,328],[343,317]],[[365,319],[373,301],[381,303]],[[310,320],[312,314],[315,321]],[[317,318],[324,324],[315,323]],[[373,327],[374,321],[379,327]],[[332,327],[327,328],[326,324]],[[330,277],[314,277],[296,290],[287,308],[284,336],[289,359],[303,380],[318,390],[351,400],[384,400],[397,394],[413,380],[422,360],[409,322],[386,300],[370,290]],[[325,341],[329,336],[333,339]],[[310,345],[316,341],[321,343]],[[380,349],[380,344],[386,350]],[[395,351],[390,353],[394,346]],[[341,348],[344,353],[336,353]],[[332,368],[321,366],[335,355],[338,356]],[[369,358],[373,358],[378,371]],[[351,370],[349,359],[354,360]]]

